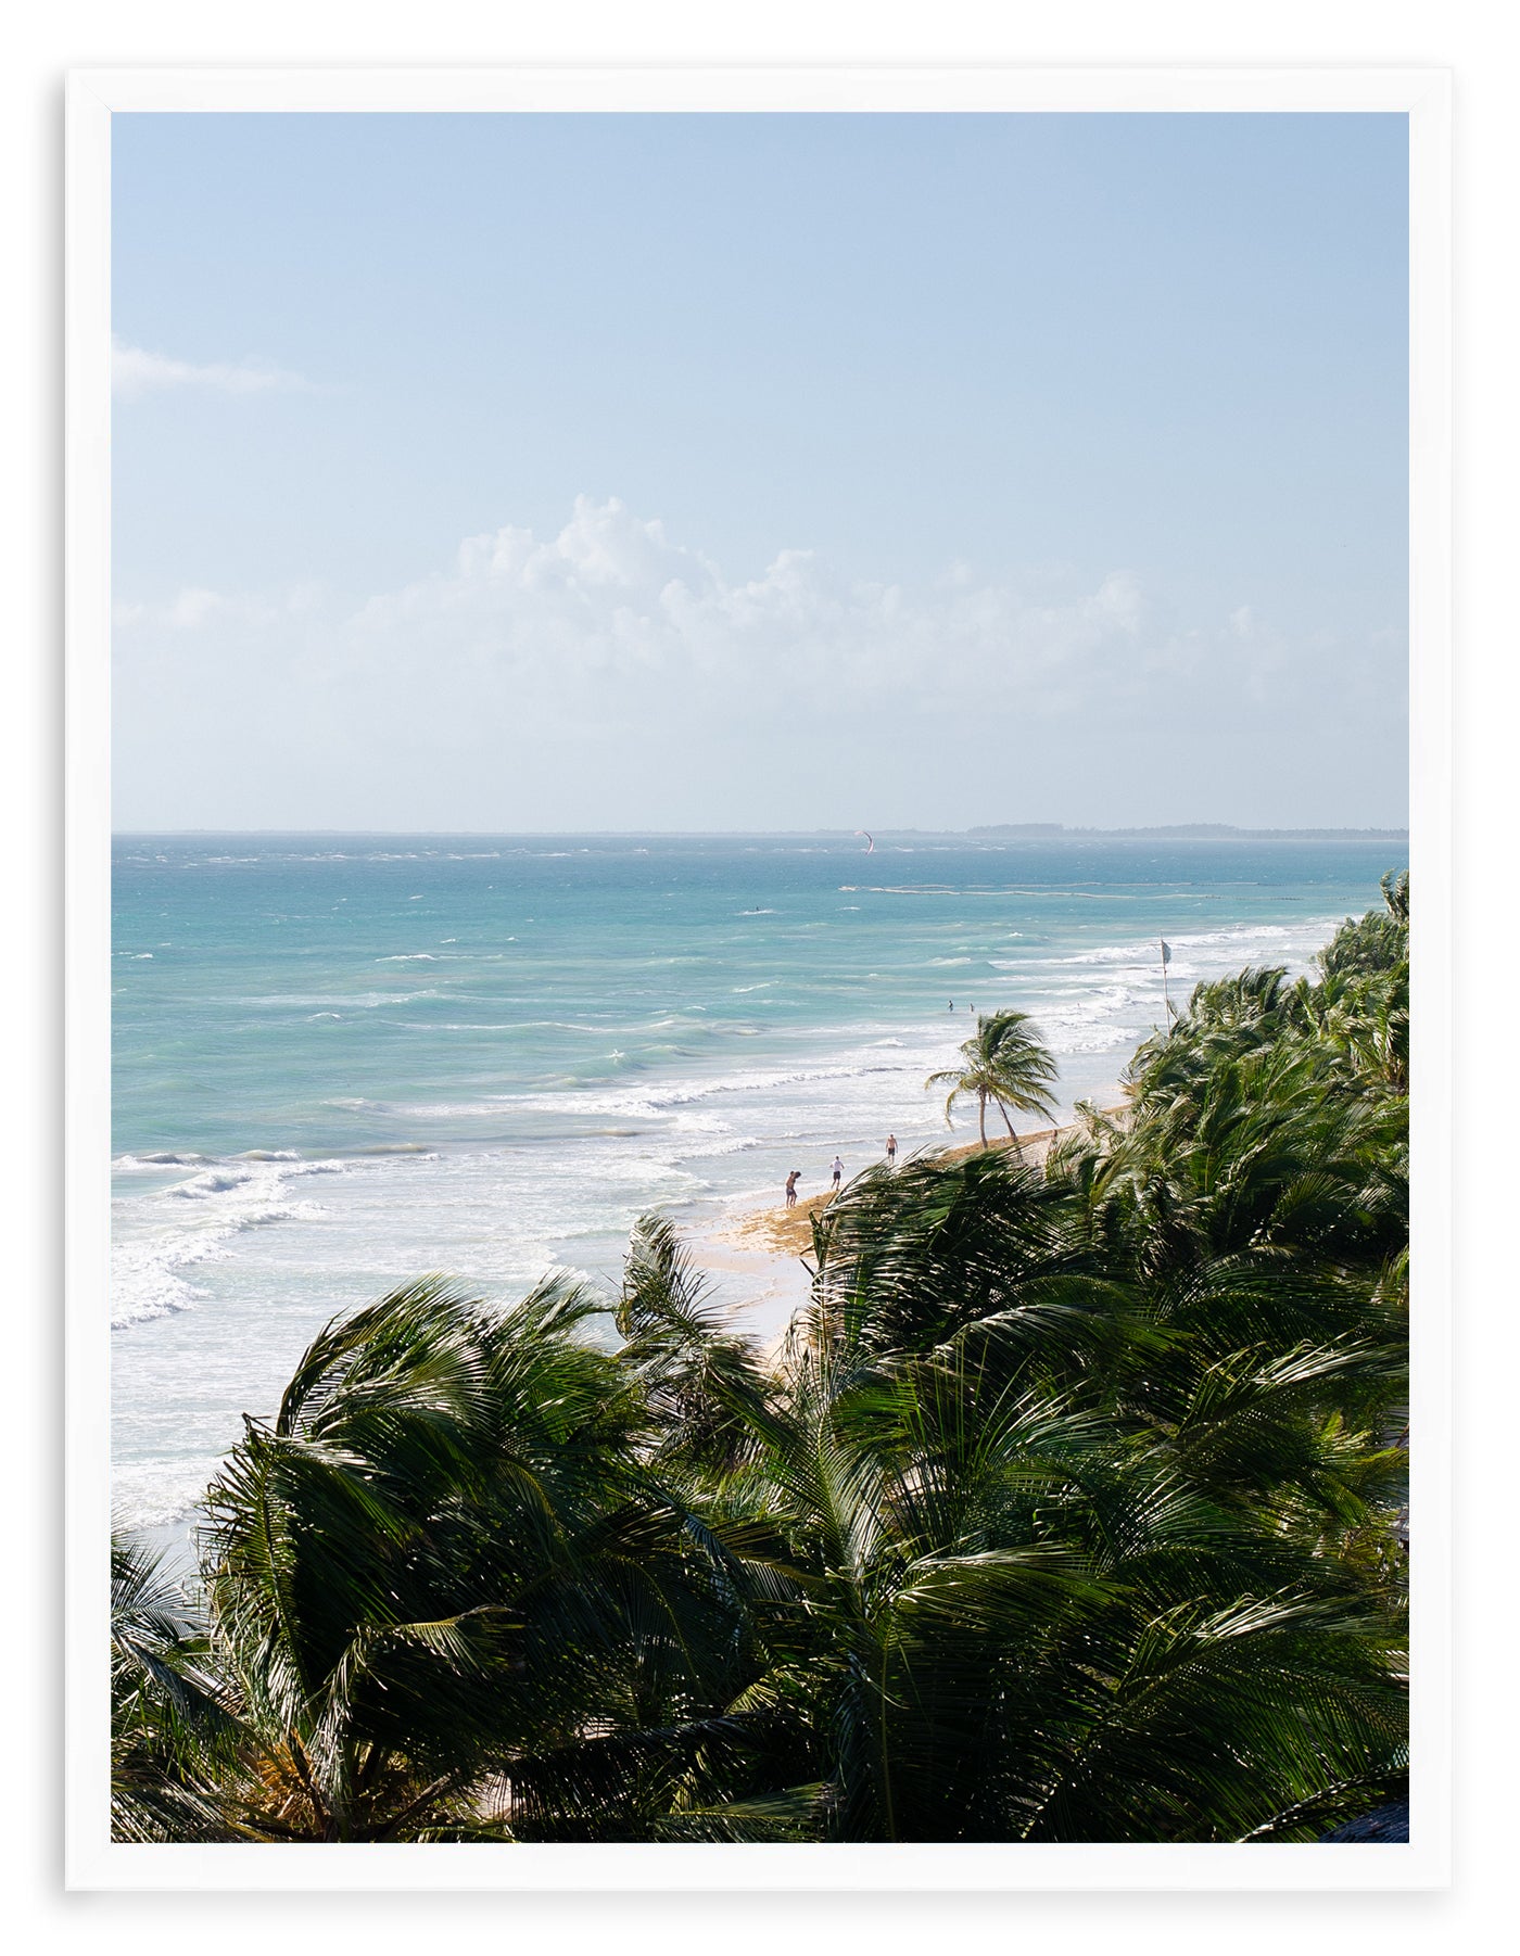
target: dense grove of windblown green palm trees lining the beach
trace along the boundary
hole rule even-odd
[[[1313,982],[1199,986],[1039,1170],[859,1178],[771,1354],[661,1219],[616,1340],[565,1281],[329,1326],[194,1600],[117,1545],[117,1837],[1311,1841],[1395,1798],[1387,894]]]

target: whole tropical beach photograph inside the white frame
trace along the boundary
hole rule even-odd
[[[1412,1880],[1410,113],[534,102],[110,115],[90,1825]]]

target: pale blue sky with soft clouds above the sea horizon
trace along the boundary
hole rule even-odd
[[[112,170],[119,829],[1407,822],[1405,117]]]

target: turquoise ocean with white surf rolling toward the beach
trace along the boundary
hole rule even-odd
[[[1031,1011],[1113,1099],[1172,998],[1307,968],[1393,841],[123,835],[113,849],[113,1508],[180,1530],[309,1338],[423,1271],[612,1295],[700,1240],[974,1138],[925,1074]],[[1039,1125],[1025,1121],[1025,1125]],[[775,1287],[753,1293],[757,1330]]]

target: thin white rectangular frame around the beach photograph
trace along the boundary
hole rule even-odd
[[[110,1819],[110,200],[113,113],[1367,111],[1410,137],[1418,1434],[1412,1841],[1170,1846],[129,1845]],[[86,68],[65,186],[65,1880],[72,1889],[1430,1889],[1452,1835],[1452,76],[1444,68]]]

